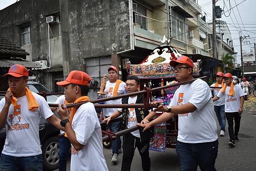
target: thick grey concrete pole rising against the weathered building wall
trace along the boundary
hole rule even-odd
[[[62,44],[62,60],[64,78],[70,73],[71,51],[70,51],[70,35],[68,22],[68,0],[60,0],[60,17],[61,17],[61,44]]]

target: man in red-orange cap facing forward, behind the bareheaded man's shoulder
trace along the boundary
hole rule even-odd
[[[107,93],[108,97],[125,94],[125,83],[117,79],[118,72],[116,67],[111,66],[108,68],[108,81],[104,92]],[[120,104],[122,99],[116,99],[111,101],[105,101],[105,104]],[[105,108],[103,114],[106,118],[112,115],[116,109]],[[108,127],[111,132],[117,132],[120,130],[121,121],[109,123]],[[118,161],[117,156],[122,151],[121,139],[117,137],[112,141],[112,159],[111,161],[116,163]]]

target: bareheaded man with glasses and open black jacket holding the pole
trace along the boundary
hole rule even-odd
[[[131,76],[126,81],[126,89],[128,93],[137,92],[140,87],[140,79]],[[143,95],[135,95],[131,97],[122,98],[121,104],[142,104]],[[140,122],[143,122],[145,116],[148,115],[148,110],[144,108],[120,108],[116,110],[111,116],[104,119],[103,122],[108,122],[111,119],[122,115],[122,129],[131,128]],[[143,132],[143,128],[135,130],[123,136],[123,157],[121,171],[130,171],[131,162],[134,157],[135,148],[138,148],[140,153],[143,171],[150,171],[150,157],[149,157],[149,141],[154,135],[153,127],[150,130]]]

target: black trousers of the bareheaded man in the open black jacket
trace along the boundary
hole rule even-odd
[[[134,157],[136,147],[140,153],[143,171],[150,171],[149,158],[149,139],[148,141],[140,142],[140,138],[133,136],[131,133],[123,136],[123,158],[121,171],[130,171],[131,162]]]

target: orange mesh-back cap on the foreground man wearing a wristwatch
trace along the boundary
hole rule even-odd
[[[89,86],[90,80],[91,78],[87,73],[73,70],[67,76],[66,80],[57,82],[56,84],[62,87],[64,87],[67,84],[78,84],[78,85]]]

